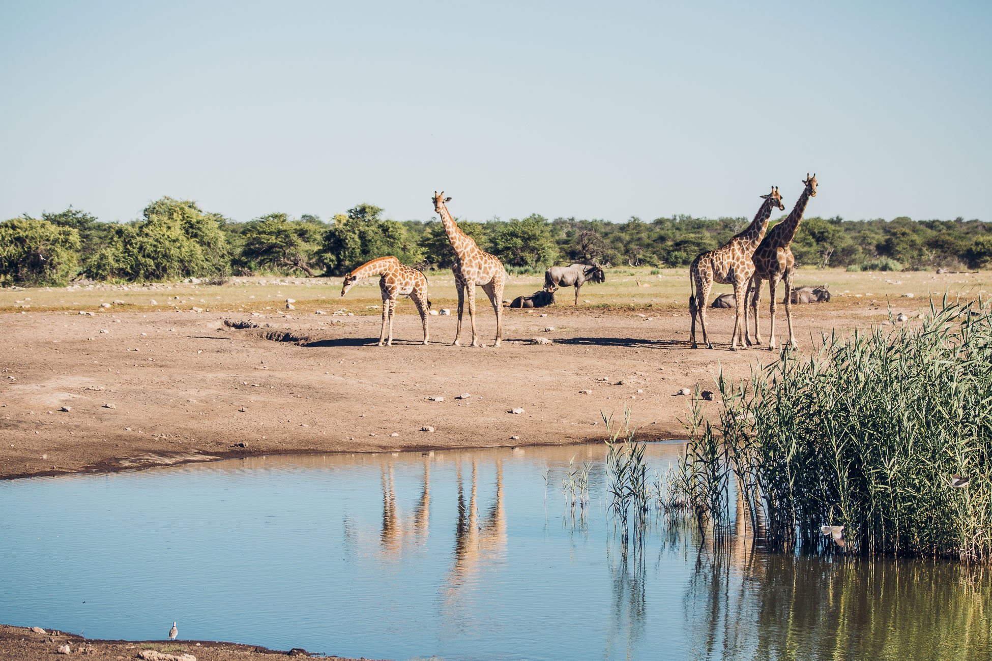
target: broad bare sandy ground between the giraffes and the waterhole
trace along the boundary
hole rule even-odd
[[[794,309],[806,350],[811,333],[887,318],[881,303]],[[236,330],[225,318],[262,327]],[[744,378],[775,355],[727,350],[732,310],[709,311],[714,350],[689,349],[687,311],[673,304],[506,310],[499,349],[491,308],[480,313],[488,348],[450,346],[455,318],[430,319],[430,346],[420,344],[419,318],[398,314],[394,346],[379,348],[368,346],[379,336],[372,315],[0,314],[0,478],[273,453],[574,443],[603,438],[601,412],[622,419],[625,406],[642,437],[682,437],[688,397],[676,391],[715,389],[721,369]],[[266,339],[280,331],[297,341]]]

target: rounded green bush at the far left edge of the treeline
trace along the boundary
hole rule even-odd
[[[79,232],[47,220],[0,223],[0,282],[65,284],[78,266]]]

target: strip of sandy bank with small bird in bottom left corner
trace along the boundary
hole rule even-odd
[[[227,642],[195,641],[195,640],[87,640],[62,631],[45,631],[44,633],[21,626],[0,624],[0,651],[5,661],[34,661],[35,659],[65,658],[59,652],[62,645],[69,646],[69,656],[79,655],[87,659],[140,659],[145,650],[154,650],[173,658],[183,654],[191,654],[197,661],[228,661],[230,659],[267,659],[306,658],[306,650],[275,651],[255,645],[237,645]],[[146,653],[147,654],[147,653]],[[146,657],[147,658],[147,657]],[[152,656],[151,658],[154,658]],[[171,661],[169,656],[160,657],[162,661]],[[325,658],[325,657],[320,657]],[[329,657],[342,659],[344,657]]]

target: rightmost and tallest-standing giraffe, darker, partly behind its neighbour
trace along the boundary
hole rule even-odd
[[[769,311],[772,315],[772,329],[768,338],[768,349],[775,350],[775,284],[782,278],[786,283],[786,323],[789,324],[789,344],[796,347],[796,338],[793,336],[793,275],[796,271],[796,259],[789,245],[796,236],[800,222],[803,220],[803,213],[806,211],[806,202],[810,197],[816,196],[816,174],[809,176],[806,172],[806,179],[803,183],[806,188],[803,194],[796,200],[796,206],[786,219],[769,231],[768,235],[758,246],[752,261],[754,263],[754,275],[751,281],[754,283],[754,296],[751,298],[751,310],[754,312],[754,342],[749,337],[751,329],[744,320],[744,341],[747,344],[761,344],[761,329],[758,326],[758,301],[761,300],[761,281],[768,280],[768,293],[772,301],[769,304]]]

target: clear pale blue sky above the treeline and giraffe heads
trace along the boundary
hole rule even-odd
[[[0,219],[992,220],[992,3],[0,0]]]

